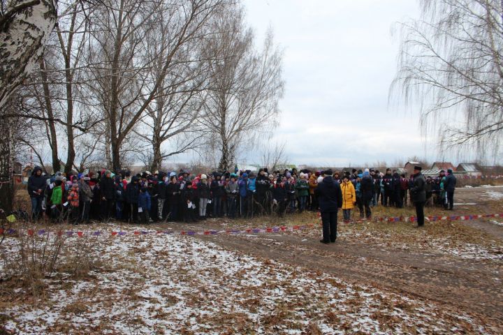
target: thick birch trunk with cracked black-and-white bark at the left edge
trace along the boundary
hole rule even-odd
[[[0,208],[12,206],[13,136],[4,108],[13,91],[36,66],[56,21],[52,0],[0,0]]]

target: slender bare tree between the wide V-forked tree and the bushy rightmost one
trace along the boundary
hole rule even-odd
[[[173,39],[172,19],[161,7],[155,15],[156,26],[147,33],[147,54],[154,61],[150,71],[152,82],[160,81],[158,91],[140,119],[140,129],[135,131],[152,151],[142,153],[142,161],[152,171],[160,170],[163,159],[194,150],[201,144],[201,126],[194,122],[201,116],[207,85],[207,60],[201,54],[207,44],[207,27],[188,40],[173,57],[172,65],[163,73]],[[163,144],[168,142],[168,148]]]

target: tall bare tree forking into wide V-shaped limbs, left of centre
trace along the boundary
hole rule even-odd
[[[224,0],[126,1],[106,0],[97,15],[94,34],[99,80],[99,101],[108,119],[108,138],[112,167],[121,168],[120,152],[126,137],[145,116],[147,107],[159,96],[161,84],[175,63],[177,54],[205,26]],[[167,18],[170,34],[163,47],[165,57],[159,75],[152,79],[154,59],[147,57],[145,37],[159,24],[159,15]]]

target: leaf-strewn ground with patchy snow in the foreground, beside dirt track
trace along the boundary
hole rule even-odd
[[[65,244],[74,246],[78,239],[68,237]],[[10,250],[17,246],[13,238],[4,243]],[[192,237],[126,234],[95,237],[90,243],[89,256],[99,259],[99,267],[80,278],[59,273],[45,279],[43,299],[36,304],[15,300],[0,312],[9,332],[491,332],[483,322],[446,306],[253,258]],[[24,290],[17,294],[22,296]]]

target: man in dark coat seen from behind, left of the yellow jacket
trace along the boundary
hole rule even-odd
[[[326,177],[318,184],[315,192],[323,223],[323,239],[320,242],[328,244],[337,239],[337,210],[342,207],[342,191],[332,177],[332,170],[327,170],[324,174]]]

